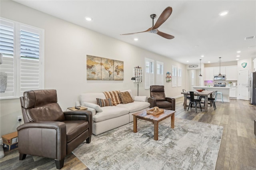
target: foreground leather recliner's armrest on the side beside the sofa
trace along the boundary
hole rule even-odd
[[[67,121],[88,121],[89,123],[89,136],[92,135],[92,112],[91,111],[64,111]]]

